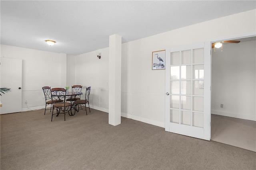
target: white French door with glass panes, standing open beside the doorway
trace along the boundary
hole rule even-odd
[[[210,47],[166,49],[166,131],[210,140]]]

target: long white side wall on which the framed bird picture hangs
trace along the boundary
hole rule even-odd
[[[151,69],[152,51],[255,33],[255,14],[256,10],[242,12],[122,44],[122,116],[164,127],[165,70]],[[81,84],[90,84],[94,90],[101,87],[97,93],[100,104],[95,99],[98,96],[94,96],[93,105],[108,111],[108,61],[103,60],[108,48],[98,51],[103,53],[101,61],[96,58],[96,51],[76,56],[76,80],[84,75]],[[99,69],[103,74],[98,74]]]

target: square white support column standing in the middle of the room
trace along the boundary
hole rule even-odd
[[[121,123],[121,49],[122,37],[110,35],[108,123],[114,126]]]

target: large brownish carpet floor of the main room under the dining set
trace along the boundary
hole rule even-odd
[[[256,152],[164,131],[108,113],[0,116],[1,170],[255,170]]]

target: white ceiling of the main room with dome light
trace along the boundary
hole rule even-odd
[[[1,44],[79,55],[256,9],[255,0],[205,1],[0,1]],[[45,40],[56,44],[49,46]]]

